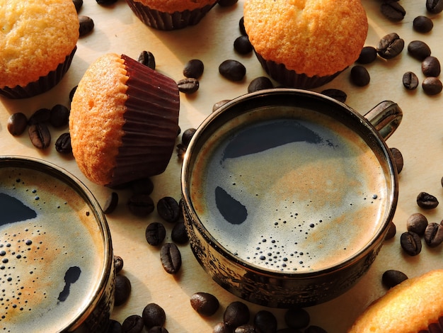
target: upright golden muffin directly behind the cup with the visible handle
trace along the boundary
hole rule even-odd
[[[328,83],[357,60],[367,37],[360,0],[246,0],[243,15],[263,68],[288,87]]]

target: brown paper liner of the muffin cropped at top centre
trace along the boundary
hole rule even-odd
[[[146,24],[146,26],[159,30],[177,30],[187,26],[195,26],[217,3],[216,1],[212,5],[207,5],[201,9],[194,9],[192,11],[166,13],[151,9],[134,0],[126,0],[126,2],[140,21]]]

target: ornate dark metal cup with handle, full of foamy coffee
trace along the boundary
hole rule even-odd
[[[181,176],[197,261],[259,305],[304,307],[345,293],[376,259],[396,210],[385,139],[401,118],[391,101],[362,116],[297,89],[246,94],[214,111]]]

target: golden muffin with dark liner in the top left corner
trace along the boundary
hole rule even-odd
[[[79,17],[71,0],[0,0],[0,95],[50,90],[71,65]]]

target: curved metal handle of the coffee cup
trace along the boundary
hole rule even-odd
[[[382,101],[364,115],[386,140],[396,131],[403,118],[403,111],[393,101]]]

